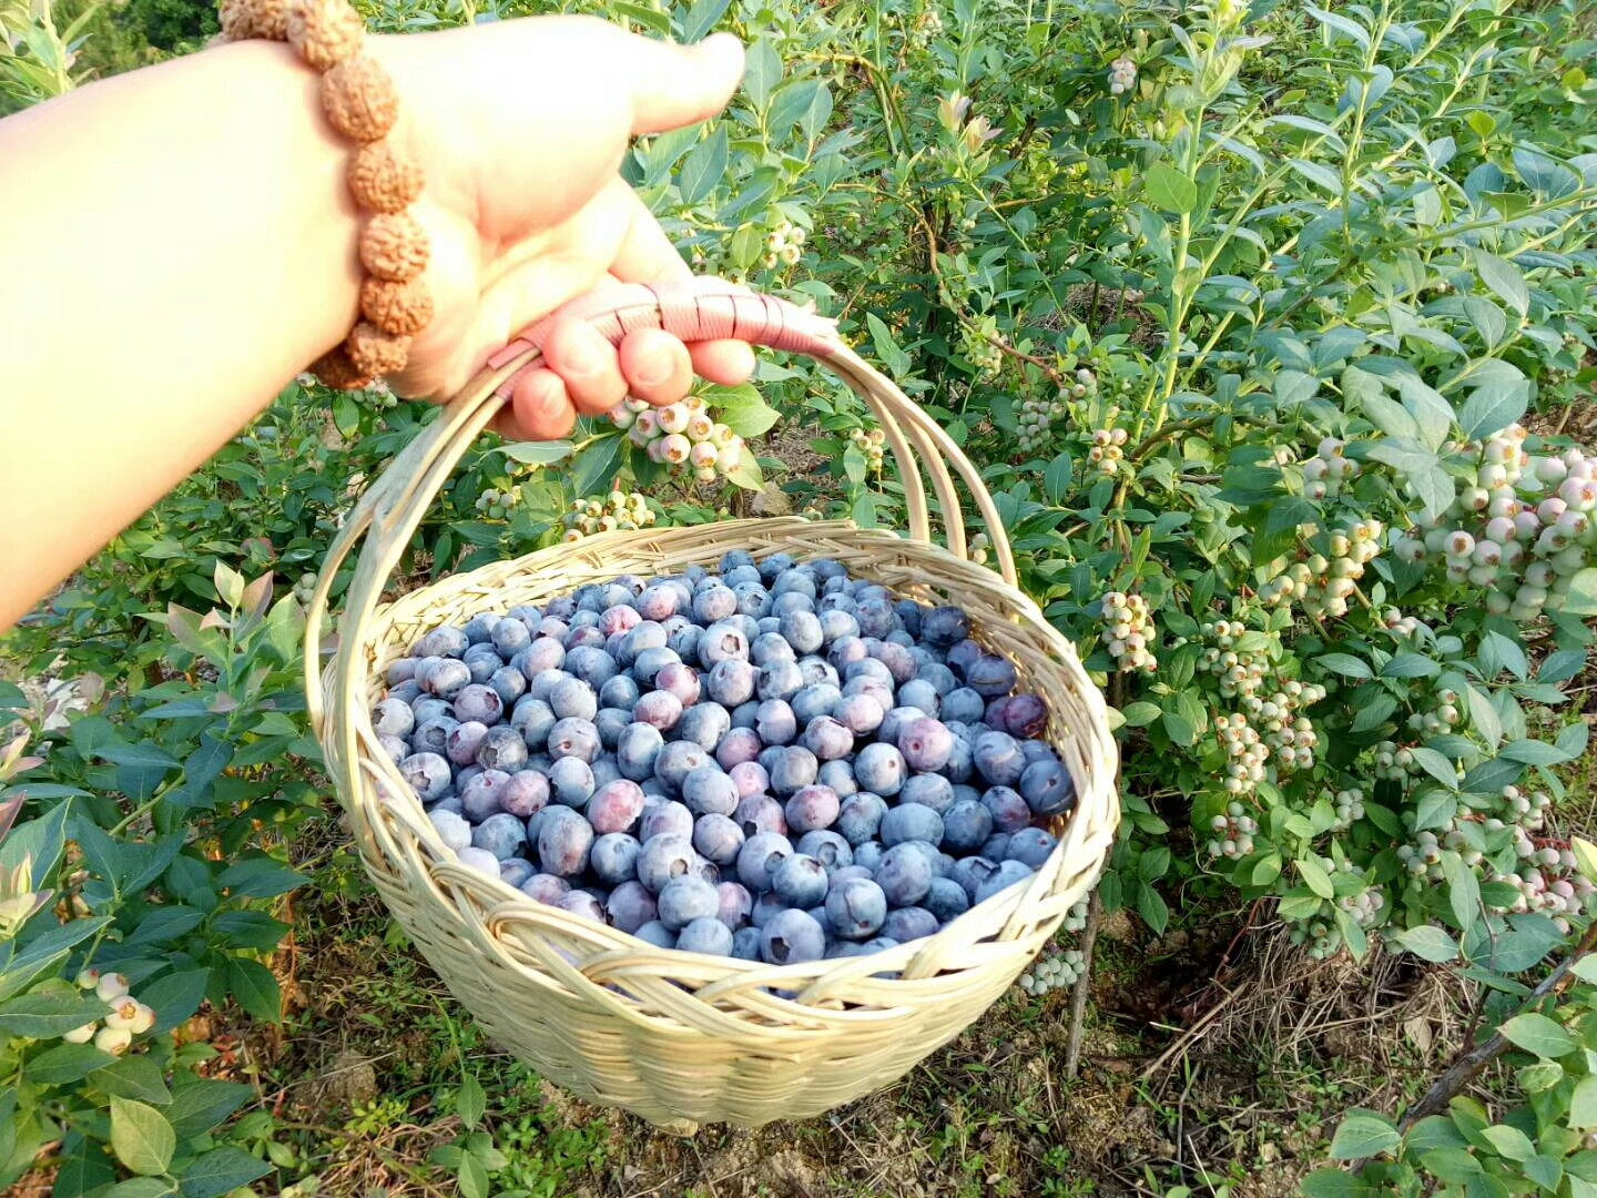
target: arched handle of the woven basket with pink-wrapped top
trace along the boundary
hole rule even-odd
[[[661,286],[631,283],[572,300],[517,334],[489,358],[476,379],[390,463],[348,513],[316,581],[305,631],[307,696],[318,733],[324,725],[327,698],[321,679],[321,631],[339,565],[361,535],[371,530],[372,537],[361,553],[359,569],[350,583],[340,637],[343,644],[340,652],[355,652],[358,645],[366,644],[367,626],[382,599],[383,586],[420,526],[428,503],[442,489],[471,442],[509,401],[516,382],[541,363],[543,340],[556,316],[572,315],[588,319],[613,345],[634,329],[664,329],[684,342],[730,337],[814,358],[864,399],[886,434],[904,484],[909,535],[925,543],[933,540],[926,489],[920,476],[925,468],[942,510],[949,549],[960,557],[969,556],[965,514],[953,476],[949,473],[952,466],[953,474],[963,479],[976,502],[998,572],[1006,583],[1016,585],[1009,538],[981,473],[936,420],[843,343],[835,321],[775,296],[735,288],[722,280],[698,278]],[[351,671],[340,671],[340,676],[348,680]],[[340,701],[343,698],[355,696],[340,696]],[[355,760],[353,740],[340,748],[351,754],[350,760]]]

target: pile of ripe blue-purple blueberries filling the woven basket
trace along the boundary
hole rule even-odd
[[[739,549],[436,628],[372,724],[462,863],[530,898],[688,952],[870,954],[1030,877],[1076,802],[968,631]]]

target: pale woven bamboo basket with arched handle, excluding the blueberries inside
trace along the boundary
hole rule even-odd
[[[426,506],[468,446],[538,363],[548,321],[495,355],[361,497],[321,572],[307,636],[307,687],[339,800],[383,901],[489,1035],[577,1096],[690,1134],[701,1123],[803,1118],[909,1072],[971,1024],[1097,882],[1119,818],[1115,743],[1102,695],[1070,645],[1017,586],[1003,522],[953,441],[861,361],[830,321],[767,296],[707,283],[636,288],[589,305],[613,342],[655,326],[684,340],[739,337],[806,353],[869,404],[904,484],[907,535],[850,522],[746,519],[610,532],[446,578],[383,604]],[[931,481],[947,548],[931,534]],[[950,473],[952,471],[952,473]],[[963,479],[998,570],[966,559]],[[324,671],[327,586],[364,537]],[[661,950],[458,863],[378,746],[371,708],[386,666],[418,636],[484,610],[537,604],[618,573],[712,565],[727,549],[835,557],[862,578],[969,613],[973,636],[1017,666],[1049,706],[1046,736],[1078,803],[1030,882],[974,906],[937,934],[870,957],[770,966]]]

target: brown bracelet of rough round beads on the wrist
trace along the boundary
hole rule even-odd
[[[372,212],[361,230],[363,319],[310,371],[327,387],[356,390],[404,369],[410,339],[433,319],[422,278],[431,256],[426,233],[406,209],[422,193],[422,163],[390,137],[399,94],[377,59],[363,54],[366,24],[350,0],[225,0],[222,42],[287,42],[321,73],[321,107],[358,144],[348,185]]]

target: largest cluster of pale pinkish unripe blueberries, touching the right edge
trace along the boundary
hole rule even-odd
[[[1453,505],[1393,538],[1401,561],[1439,562],[1450,581],[1490,588],[1487,610],[1519,623],[1560,610],[1597,546],[1597,458],[1530,454],[1527,436],[1511,425],[1480,444]]]

